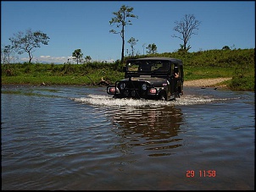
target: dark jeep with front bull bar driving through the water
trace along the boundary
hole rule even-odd
[[[128,59],[125,79],[107,87],[114,98],[170,101],[183,95],[183,63],[177,58]]]

